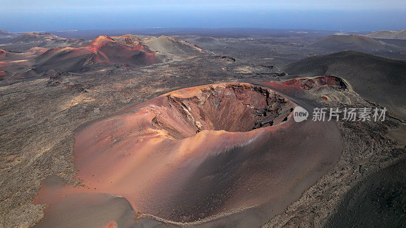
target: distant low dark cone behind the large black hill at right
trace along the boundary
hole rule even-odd
[[[311,48],[323,48],[332,51],[361,51],[361,52],[401,52],[405,49],[396,45],[376,41],[362,35],[329,35],[320,41],[308,46]]]

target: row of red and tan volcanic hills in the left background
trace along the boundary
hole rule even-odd
[[[62,44],[71,41],[51,33],[31,32],[20,35],[14,42]],[[205,53],[209,52],[174,37],[160,36],[156,39],[142,40],[130,34],[114,37],[100,35],[80,47],[70,45],[49,49],[36,47],[19,52],[1,50],[0,79],[30,78],[48,74],[49,70],[83,73],[112,66],[134,68]]]

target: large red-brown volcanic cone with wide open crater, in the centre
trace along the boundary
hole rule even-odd
[[[246,83],[161,95],[81,126],[74,161],[84,187],[45,188],[37,202],[62,208],[51,196],[107,193],[124,197],[139,216],[178,225],[256,206],[280,213],[340,155],[335,122],[295,123],[294,107]]]

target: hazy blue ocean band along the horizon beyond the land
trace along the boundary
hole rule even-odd
[[[91,10],[89,10],[91,9]],[[262,27],[343,31],[401,30],[406,10],[290,10],[211,8],[94,8],[0,10],[0,29],[50,31],[153,27]]]

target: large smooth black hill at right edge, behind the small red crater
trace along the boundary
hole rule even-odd
[[[362,97],[406,117],[406,61],[344,51],[305,58],[285,66],[284,70],[304,76],[341,77]]]

